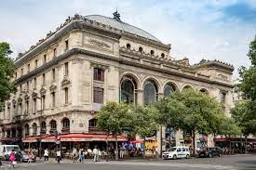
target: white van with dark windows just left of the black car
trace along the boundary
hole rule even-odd
[[[190,151],[188,147],[172,147],[163,152],[163,159],[189,158]]]

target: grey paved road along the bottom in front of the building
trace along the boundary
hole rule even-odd
[[[3,163],[2,169],[8,169]],[[188,160],[165,161],[112,161],[93,163],[18,163],[17,170],[256,170],[256,155],[224,156],[222,158],[194,158]]]

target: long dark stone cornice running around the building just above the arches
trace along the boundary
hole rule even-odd
[[[48,61],[43,66],[41,66],[41,67],[35,69],[34,71],[29,72],[29,73],[23,75],[22,77],[20,77],[19,79],[16,80],[15,83],[16,83],[16,85],[21,84],[21,83],[27,81],[29,78],[33,77],[34,75],[42,73],[42,72],[46,71],[48,68],[60,63],[61,60],[68,59],[69,57],[71,57],[73,55],[76,55],[76,54],[88,55],[88,56],[95,57],[95,58],[100,58],[100,59],[113,60],[113,61],[116,61],[120,64],[130,65],[130,66],[133,66],[133,67],[147,69],[147,70],[151,70],[151,71],[155,71],[155,72],[168,73],[168,74],[171,74],[171,75],[176,75],[176,76],[180,76],[182,78],[192,79],[192,80],[200,81],[200,82],[204,82],[204,83],[233,87],[233,85],[230,85],[230,84],[218,82],[216,80],[209,80],[209,76],[204,76],[204,75],[200,75],[200,74],[195,76],[195,74],[192,75],[191,72],[186,73],[185,71],[182,71],[182,70],[177,70],[176,72],[169,71],[169,70],[164,69],[164,68],[146,65],[144,63],[141,63],[140,61],[135,62],[135,61],[131,61],[131,60],[128,60],[128,59],[125,59],[125,58],[118,58],[118,57],[109,56],[109,55],[105,55],[105,54],[99,54],[99,53],[96,53],[96,52],[92,52],[92,51],[88,51],[88,50],[80,49],[80,48],[73,48],[73,49],[67,51],[66,53],[62,54],[61,56]],[[159,63],[159,65],[160,65],[160,63]]]

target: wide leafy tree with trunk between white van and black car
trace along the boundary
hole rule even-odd
[[[175,115],[179,120],[178,127],[184,134],[189,134],[193,139],[193,152],[195,154],[195,133],[218,134],[219,124],[222,122],[222,106],[215,99],[194,89],[184,89],[169,96],[180,101],[182,111]],[[173,114],[173,113],[172,113]],[[176,123],[175,123],[176,124]]]

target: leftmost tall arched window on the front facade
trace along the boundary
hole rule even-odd
[[[120,85],[120,100],[125,103],[136,103],[136,82],[130,76],[124,76]]]

